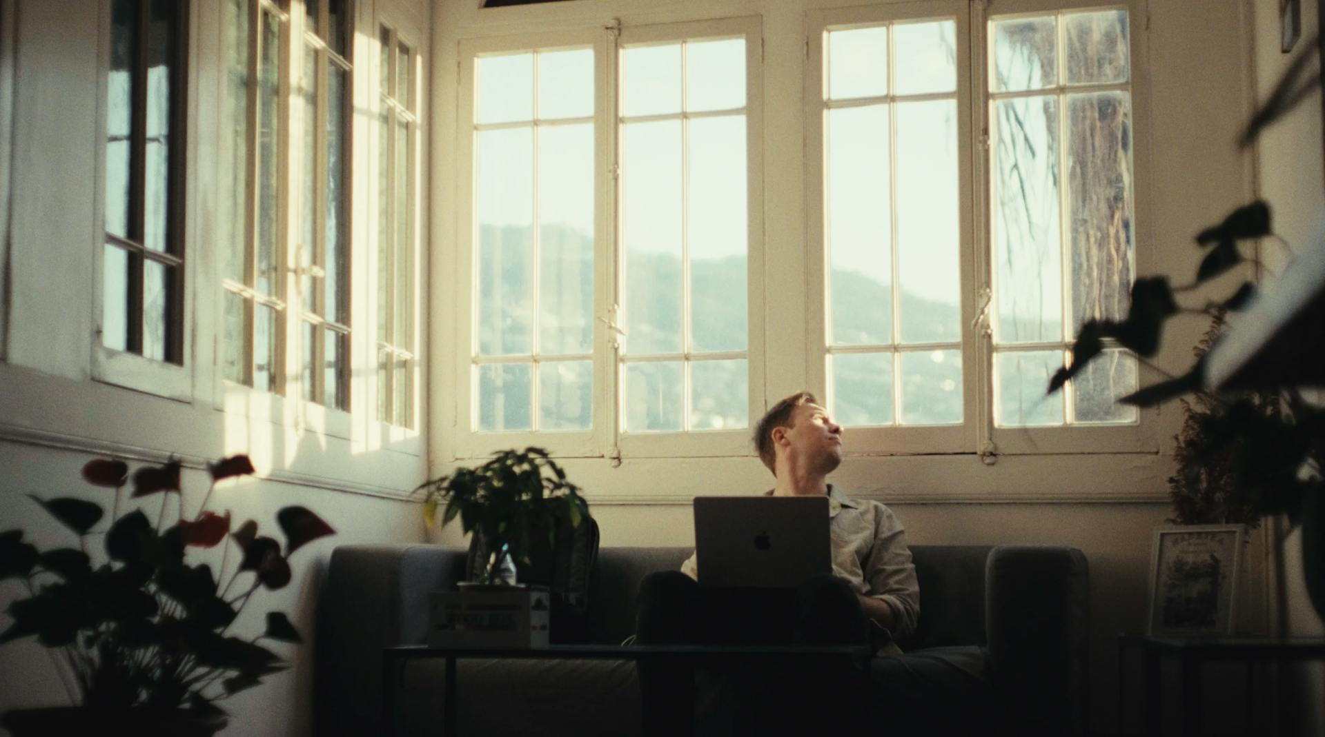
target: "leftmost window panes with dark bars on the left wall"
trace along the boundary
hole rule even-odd
[[[101,343],[184,363],[187,3],[114,0],[106,78]]]

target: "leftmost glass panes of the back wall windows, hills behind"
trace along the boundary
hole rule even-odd
[[[480,431],[591,427],[594,62],[571,48],[474,64]]]

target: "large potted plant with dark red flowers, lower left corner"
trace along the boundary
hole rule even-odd
[[[229,512],[211,512],[207,501],[217,482],[252,474],[253,464],[236,455],[208,464],[208,471],[212,486],[197,511],[186,516],[178,462],[138,468],[130,479],[123,462],[94,459],[82,475],[113,490],[106,527],[98,528],[101,504],[32,496],[77,544],[38,550],[21,531],[0,533],[0,580],[19,578],[28,590],[9,605],[13,623],[0,643],[36,636],[77,704],[7,712],[3,724],[15,737],[207,737],[225,726],[217,701],[288,667],[260,644],[301,642],[285,614],[268,613],[265,631],[252,638],[233,634],[231,626],[260,587],[290,582],[292,553],[334,531],[303,507],[277,512],[284,552],[277,540],[258,535],[252,520],[233,529]],[[160,498],[155,523],[142,507],[119,515],[126,486],[132,499]],[[94,545],[97,537],[101,545]],[[189,548],[216,545],[225,548],[215,573],[205,562],[187,560]]]

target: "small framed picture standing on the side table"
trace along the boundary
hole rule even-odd
[[[1246,525],[1155,528],[1150,635],[1231,635]]]

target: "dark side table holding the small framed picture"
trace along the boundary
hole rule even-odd
[[[1146,734],[1158,736],[1163,720],[1163,683],[1159,677],[1161,658],[1177,658],[1179,664],[1179,704],[1182,713],[1182,734],[1191,737],[1202,734],[1200,721],[1200,667],[1206,663],[1232,662],[1247,664],[1247,725],[1251,724],[1255,707],[1252,683],[1253,667],[1257,663],[1289,663],[1300,660],[1325,660],[1325,638],[1265,638],[1265,636],[1174,636],[1174,635],[1118,635],[1118,729],[1126,728],[1124,684],[1124,655],[1137,648],[1143,658],[1143,713]]]

